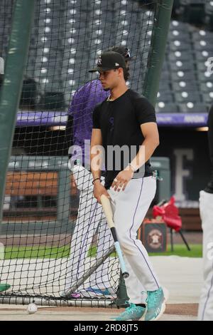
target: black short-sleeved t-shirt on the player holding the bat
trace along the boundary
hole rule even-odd
[[[124,170],[138,153],[144,140],[141,124],[148,122],[156,122],[153,105],[131,89],[116,100],[104,100],[103,103],[99,103],[94,108],[93,128],[102,130],[106,188],[111,186],[116,175]],[[111,150],[113,147],[115,150]],[[117,150],[121,147],[124,148],[125,154],[118,155]],[[146,177],[151,174],[151,164],[147,161],[145,166],[133,177],[142,177],[143,175]]]

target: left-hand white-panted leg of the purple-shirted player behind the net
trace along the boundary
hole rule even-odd
[[[70,244],[70,258],[67,262],[67,276],[65,291],[84,274],[84,262],[89,251],[92,237],[97,230],[102,208],[93,197],[92,175],[81,165],[75,165],[72,170],[78,190],[80,190],[80,204],[75,230]]]

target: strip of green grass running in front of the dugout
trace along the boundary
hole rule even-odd
[[[191,251],[188,251],[185,244],[175,244],[174,252],[171,252],[170,245],[168,245],[167,252],[149,253],[150,256],[170,256],[177,255],[181,257],[202,257],[202,244],[191,244]],[[6,247],[4,250],[4,259],[18,259],[18,258],[61,258],[68,257],[70,254],[70,244],[64,247]],[[94,257],[97,248],[91,247],[88,256]],[[115,253],[112,253],[113,257]]]

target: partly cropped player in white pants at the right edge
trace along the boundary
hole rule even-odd
[[[213,166],[213,105],[209,110],[208,126],[209,153]],[[200,191],[200,217],[203,230],[204,284],[200,297],[198,320],[213,321],[213,169],[207,187]]]

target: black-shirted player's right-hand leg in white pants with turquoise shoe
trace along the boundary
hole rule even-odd
[[[114,207],[114,223],[121,244],[121,249],[131,267],[129,280],[126,282],[127,292],[133,291],[135,275],[148,293],[148,311],[146,318],[156,319],[163,313],[163,290],[151,265],[146,249],[141,240],[136,239],[138,228],[148,211],[155,195],[156,181],[153,177],[133,179],[125,191],[109,190],[111,205]],[[155,302],[155,304],[153,304]],[[162,309],[161,309],[162,305]],[[158,313],[157,309],[160,311]]]

